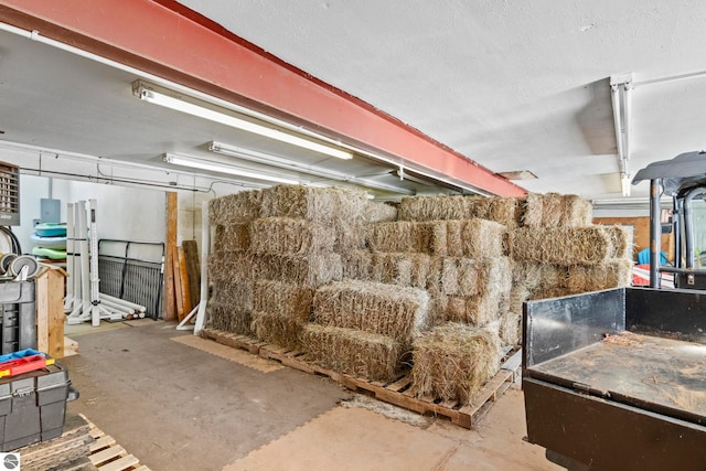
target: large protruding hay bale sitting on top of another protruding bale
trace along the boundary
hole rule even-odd
[[[343,280],[317,290],[314,322],[357,329],[409,345],[426,329],[429,296],[416,288],[372,281]]]

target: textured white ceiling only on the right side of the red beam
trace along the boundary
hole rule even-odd
[[[706,71],[704,2],[181,3],[531,191],[621,196],[611,75],[637,83],[633,173],[706,147],[706,77],[671,79]]]

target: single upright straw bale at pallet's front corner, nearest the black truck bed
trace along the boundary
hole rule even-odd
[[[500,370],[500,341],[482,329],[452,322],[417,339],[413,358],[415,396],[470,404]]]

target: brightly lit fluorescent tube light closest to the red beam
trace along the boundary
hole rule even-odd
[[[243,131],[253,132],[258,136],[263,136],[269,139],[275,139],[280,142],[286,142],[292,146],[297,146],[303,149],[309,149],[314,152],[323,153],[325,156],[335,157],[338,159],[352,159],[353,153],[336,149],[331,146],[314,142],[309,139],[300,138],[299,136],[291,135],[289,132],[280,131],[279,129],[270,128],[267,126],[258,125],[246,119],[237,118],[225,113],[216,111],[211,108],[206,108],[193,103],[184,101],[179,98],[164,95],[162,93],[149,89],[145,85],[137,85],[137,96],[148,103],[163,106],[176,111],[186,113],[199,118],[208,119],[210,121],[218,122],[222,125],[231,126]]]

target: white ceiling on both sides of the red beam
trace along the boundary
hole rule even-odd
[[[530,191],[619,199],[609,77],[632,73],[630,170],[706,148],[706,3],[182,0],[287,63]],[[704,73],[704,75],[699,75]],[[686,74],[695,77],[676,79]],[[238,143],[407,191],[374,162],[282,148],[145,104],[140,74],[0,32],[0,139],[164,164]],[[306,175],[296,175],[307,180]],[[311,180],[311,179],[309,179]],[[646,196],[648,186],[633,189]]]

